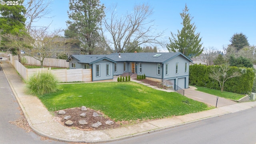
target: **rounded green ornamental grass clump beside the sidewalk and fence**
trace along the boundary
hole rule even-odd
[[[58,81],[50,72],[37,72],[28,79],[27,88],[29,94],[40,96],[56,92]]]

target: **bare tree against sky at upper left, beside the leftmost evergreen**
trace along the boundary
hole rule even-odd
[[[33,22],[38,22],[51,12],[50,4],[52,2],[52,0],[22,0],[22,4],[26,8],[24,17],[26,18],[25,25],[28,32],[30,32]]]

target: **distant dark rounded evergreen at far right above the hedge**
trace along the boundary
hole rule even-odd
[[[248,40],[247,40],[247,36],[242,34],[242,32],[240,34],[236,33],[232,36],[232,38],[229,40],[231,42],[231,46],[234,46],[236,48],[236,50],[240,50],[242,48],[244,48],[245,46],[250,46]]]

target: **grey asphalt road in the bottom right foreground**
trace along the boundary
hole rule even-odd
[[[104,144],[255,144],[256,107]]]

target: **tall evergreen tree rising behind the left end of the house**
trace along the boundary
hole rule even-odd
[[[82,51],[93,54],[99,41],[99,30],[102,18],[105,16],[104,4],[100,0],[70,0],[68,30],[65,30],[66,37],[75,36],[81,42]]]

